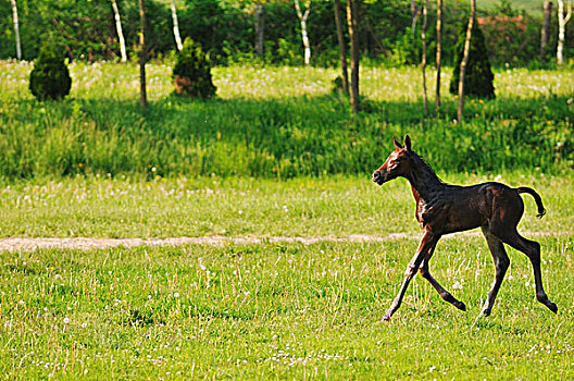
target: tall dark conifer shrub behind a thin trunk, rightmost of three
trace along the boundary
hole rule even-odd
[[[457,58],[454,70],[450,79],[450,94],[459,94],[460,65],[464,54],[464,40],[466,39],[466,24],[459,27],[459,38],[454,48]],[[488,51],[483,32],[476,21],[473,23],[469,62],[464,71],[464,95],[476,98],[495,98],[495,74],[488,60]]]

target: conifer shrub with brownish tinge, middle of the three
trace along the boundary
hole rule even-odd
[[[184,48],[177,53],[173,77],[177,95],[192,98],[211,98],[215,95],[209,58],[201,46],[190,38],[186,38]]]

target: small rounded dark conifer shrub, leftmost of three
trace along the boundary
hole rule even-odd
[[[61,99],[70,94],[72,78],[64,58],[52,45],[45,45],[34,62],[29,89],[39,100]]]

